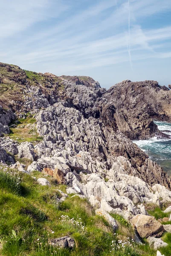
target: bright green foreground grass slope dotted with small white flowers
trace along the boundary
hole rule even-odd
[[[30,175],[20,174],[23,178],[19,193],[0,183],[0,239],[4,256],[42,256],[42,255],[70,255],[70,256],[126,256],[122,250],[110,252],[112,241],[125,240],[133,237],[134,232],[123,218],[114,216],[119,229],[113,233],[110,225],[100,216],[95,215],[89,202],[79,197],[69,196],[58,207],[53,203],[52,197],[65,192],[64,185],[55,184],[51,177],[46,177],[52,183],[51,187],[41,186]],[[43,174],[34,172],[32,175],[43,177]],[[78,227],[61,222],[61,215],[82,221],[86,232],[81,232]],[[16,236],[12,235],[12,230]],[[52,231],[54,233],[52,234]],[[49,234],[49,235],[48,235]],[[49,237],[71,236],[75,239],[75,248],[71,251],[58,250],[52,253],[52,248],[46,246]],[[170,234],[164,236],[169,241]],[[38,239],[40,239],[38,241]],[[42,243],[40,245],[40,242]],[[38,245],[39,243],[39,245]],[[165,256],[169,254],[171,241],[166,249]],[[45,247],[44,247],[45,246]],[[51,251],[50,251],[51,249]],[[147,244],[137,248],[128,248],[132,256],[154,256],[156,252]],[[161,251],[162,251],[161,250]],[[52,253],[52,254],[51,254]]]

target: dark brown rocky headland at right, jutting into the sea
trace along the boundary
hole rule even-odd
[[[171,122],[171,91],[159,86],[157,81],[123,81],[104,93],[109,102],[104,119],[113,115],[119,131],[130,139],[147,139],[159,134],[153,119]],[[115,113],[113,108],[115,106]],[[113,120],[111,120],[113,122]],[[115,126],[115,124],[110,124]]]

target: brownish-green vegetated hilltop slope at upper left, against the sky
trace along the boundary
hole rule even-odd
[[[52,90],[63,93],[64,86],[62,80],[57,76],[46,76],[44,74],[22,70],[12,64],[0,63],[0,105],[3,108],[10,108],[18,111],[24,101],[23,96],[27,96],[26,84],[40,87],[47,95]],[[14,101],[14,102],[12,102]]]

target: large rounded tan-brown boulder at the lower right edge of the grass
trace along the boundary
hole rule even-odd
[[[142,238],[159,237],[164,232],[163,225],[152,216],[138,214],[132,218],[132,224]]]

